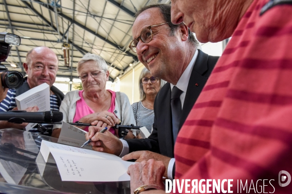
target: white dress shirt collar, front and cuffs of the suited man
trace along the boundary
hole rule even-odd
[[[191,73],[192,73],[193,67],[195,65],[198,53],[199,53],[198,50],[196,50],[191,62],[189,63],[189,65],[187,65],[186,69],[183,71],[182,76],[180,77],[179,81],[176,84],[176,87],[178,87],[180,90],[183,91],[183,93],[181,94],[181,97],[180,97],[181,103],[182,103],[182,109],[183,109],[183,102],[184,102],[184,98],[185,98],[185,93],[186,93],[186,90],[187,90],[188,82],[190,80]],[[174,85],[172,83],[170,83],[171,91],[172,91],[173,86]],[[126,154],[129,153],[129,145],[128,145],[128,143],[125,140],[121,140],[121,142],[123,144],[123,150],[122,150],[122,152],[121,152],[119,157],[123,157],[123,156],[125,156]],[[173,179],[173,177],[172,177],[172,169],[173,169],[174,162],[175,162],[175,159],[172,158],[172,159],[170,159],[170,161],[168,163],[167,177],[169,179]]]

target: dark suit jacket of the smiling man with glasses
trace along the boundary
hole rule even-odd
[[[193,67],[184,98],[179,129],[182,128],[187,115],[193,108],[202,88],[204,87],[215,64],[217,63],[217,60],[219,59],[219,57],[209,56],[199,49],[198,51],[199,53]],[[170,83],[166,83],[155,98],[154,124],[151,135],[146,139],[126,140],[129,145],[129,152],[149,150],[170,158],[174,158],[170,97]]]

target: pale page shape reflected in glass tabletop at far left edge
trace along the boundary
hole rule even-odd
[[[0,173],[10,184],[18,184],[26,170],[17,163],[0,159]]]

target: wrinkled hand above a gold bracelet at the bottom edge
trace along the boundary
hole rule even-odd
[[[153,159],[130,165],[127,173],[131,177],[131,193],[134,193],[135,189],[143,185],[157,185],[164,190],[162,182],[164,171],[164,163]]]

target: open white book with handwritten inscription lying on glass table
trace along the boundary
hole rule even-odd
[[[113,154],[66,146],[42,140],[40,152],[45,162],[57,164],[62,181],[127,181],[128,167],[135,162],[123,161]]]

